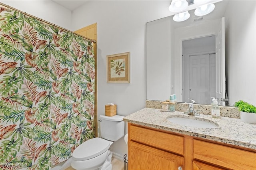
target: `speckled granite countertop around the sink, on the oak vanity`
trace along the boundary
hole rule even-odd
[[[174,115],[185,118],[206,119],[208,122],[216,123],[218,127],[195,128],[174,124],[167,120],[167,118]],[[256,125],[244,123],[236,118],[220,117],[216,119],[212,118],[211,115],[188,116],[179,111],[171,113],[162,112],[160,109],[144,108],[124,117],[123,120],[136,125],[256,149]]]

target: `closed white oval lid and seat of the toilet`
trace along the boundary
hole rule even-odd
[[[72,153],[73,160],[82,161],[103,154],[110,147],[110,142],[102,138],[92,138],[80,144]]]

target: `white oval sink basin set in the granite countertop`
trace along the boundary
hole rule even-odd
[[[218,124],[210,120],[200,118],[201,120],[191,119],[186,117],[170,117],[167,120],[182,126],[196,127],[196,128],[217,128]]]

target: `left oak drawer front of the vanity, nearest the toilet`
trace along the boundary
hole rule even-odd
[[[184,137],[130,125],[130,139],[166,151],[183,155]]]

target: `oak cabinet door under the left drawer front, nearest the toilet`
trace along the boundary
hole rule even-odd
[[[129,170],[178,170],[184,158],[150,146],[129,142]]]

